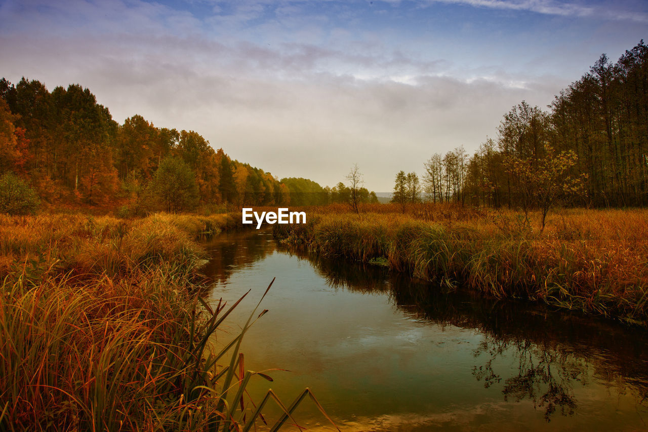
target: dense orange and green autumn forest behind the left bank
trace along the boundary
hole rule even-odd
[[[284,178],[232,160],[194,131],[159,128],[141,115],[121,125],[78,84],[47,90],[38,80],[0,80],[0,174],[27,182],[50,203],[130,210],[199,205],[314,205],[350,202],[349,190]],[[12,186],[13,187],[13,186]],[[13,187],[12,190],[19,191]],[[363,188],[362,200],[371,194]],[[19,193],[14,193],[19,195]],[[375,194],[373,194],[375,198]]]

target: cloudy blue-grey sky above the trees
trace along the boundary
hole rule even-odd
[[[81,84],[278,178],[391,191],[648,39],[648,1],[0,0],[0,76]]]

